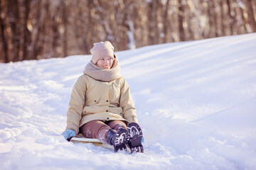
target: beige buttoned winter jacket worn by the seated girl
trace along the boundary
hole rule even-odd
[[[123,77],[110,82],[97,81],[83,74],[70,96],[67,128],[75,130],[90,120],[125,120],[138,123],[129,86]]]

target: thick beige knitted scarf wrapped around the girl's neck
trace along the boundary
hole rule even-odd
[[[83,74],[86,74],[96,80],[109,82],[121,77],[120,70],[117,60],[113,62],[111,69],[103,69],[90,61],[85,66]]]

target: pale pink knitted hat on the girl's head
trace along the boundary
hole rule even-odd
[[[92,62],[97,63],[102,57],[112,57],[114,60],[114,47],[109,41],[96,42],[90,50],[92,53]]]

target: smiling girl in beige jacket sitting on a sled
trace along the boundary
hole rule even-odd
[[[114,47],[109,41],[97,42],[90,52],[92,60],[73,87],[62,135],[68,140],[80,132],[114,145],[114,152],[144,152],[142,129]]]

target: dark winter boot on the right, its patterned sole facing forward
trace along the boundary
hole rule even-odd
[[[130,153],[144,152],[142,146],[142,137],[142,129],[139,127],[139,125],[137,123],[129,123],[129,125],[127,125],[126,133],[127,151]]]

